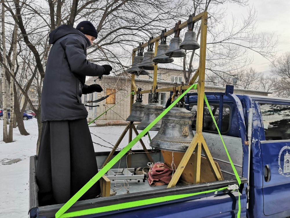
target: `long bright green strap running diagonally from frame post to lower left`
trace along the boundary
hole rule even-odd
[[[184,95],[192,88],[196,89],[197,84],[191,85],[185,92],[183,92],[168,108],[166,108],[155,120],[152,121],[141,133],[139,133],[126,147],[124,147],[110,162],[108,162],[93,178],[90,179],[71,199],[68,200],[55,214],[56,218],[63,218],[64,212],[68,210],[86,191],[90,189],[115,163],[117,163],[173,106],[184,97]],[[151,199],[148,200],[151,202]],[[134,207],[130,203],[130,207]]]

